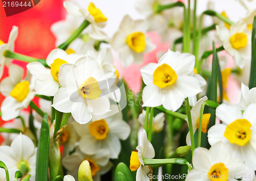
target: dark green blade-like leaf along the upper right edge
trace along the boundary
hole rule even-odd
[[[249,88],[256,87],[256,46],[255,46],[256,16],[254,16],[251,33],[251,72],[249,80]]]

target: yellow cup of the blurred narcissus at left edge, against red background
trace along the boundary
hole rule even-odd
[[[22,102],[29,94],[29,81],[24,80],[15,85],[15,87],[10,92],[10,96],[17,101]]]

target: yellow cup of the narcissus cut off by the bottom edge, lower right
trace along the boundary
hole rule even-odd
[[[214,164],[211,166],[208,172],[208,178],[210,180],[223,180],[226,181],[228,178],[228,169],[223,163]]]

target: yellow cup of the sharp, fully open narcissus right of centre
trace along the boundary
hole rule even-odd
[[[158,66],[153,73],[153,83],[160,88],[164,88],[167,85],[173,85],[176,80],[176,72],[166,63]]]

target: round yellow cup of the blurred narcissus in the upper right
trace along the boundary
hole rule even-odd
[[[230,37],[230,43],[234,49],[242,49],[247,45],[247,35],[244,33],[235,33]]]

